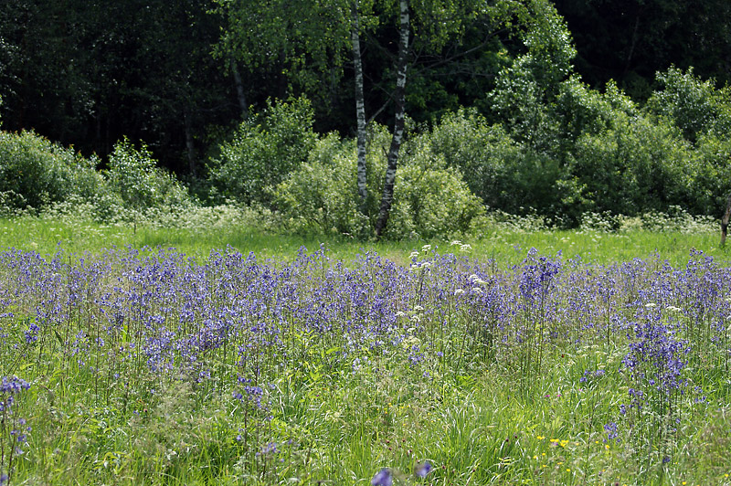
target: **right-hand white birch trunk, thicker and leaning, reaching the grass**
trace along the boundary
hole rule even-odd
[[[386,177],[383,185],[383,196],[381,207],[378,211],[376,221],[376,239],[380,239],[386,230],[388,216],[391,213],[391,204],[394,199],[394,181],[396,180],[396,167],[398,162],[398,151],[404,138],[404,125],[406,122],[406,69],[408,53],[408,0],[399,0],[401,11],[400,32],[398,39],[398,60],[397,79],[394,100],[396,101],[396,122],[394,123],[394,134],[391,138],[391,146],[388,149]]]

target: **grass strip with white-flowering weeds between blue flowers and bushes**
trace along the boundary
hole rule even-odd
[[[414,248],[430,244],[448,250],[452,238],[429,241],[357,241],[350,238],[292,236],[281,234],[267,219],[249,213],[238,214],[232,207],[220,211],[200,209],[194,215],[173,214],[132,224],[103,225],[83,215],[51,213],[42,217],[0,219],[0,248],[23,248],[52,255],[58,248],[68,253],[96,253],[103,248],[176,248],[189,256],[205,258],[211,248],[253,251],[262,259],[291,260],[300,247],[319,248],[325,243],[334,259],[354,259],[364,249],[399,263],[408,263]],[[210,213],[210,214],[209,214]],[[655,219],[657,217],[655,216]],[[660,255],[673,264],[687,259],[692,248],[702,249],[720,261],[728,259],[728,249],[719,248],[715,224],[693,220],[656,221],[644,224],[628,220],[618,230],[595,218],[592,224],[576,230],[556,230],[532,218],[493,218],[475,227],[471,234],[458,236],[471,246],[472,258],[494,259],[503,265],[520,263],[530,248],[546,253],[560,251],[565,258],[580,257],[588,262],[606,264]],[[664,228],[661,230],[661,228]]]

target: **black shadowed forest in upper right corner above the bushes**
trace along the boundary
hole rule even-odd
[[[655,73],[694,67],[722,85],[731,76],[731,4],[726,0],[555,0],[577,46],[577,72],[594,88],[614,79],[635,100]]]

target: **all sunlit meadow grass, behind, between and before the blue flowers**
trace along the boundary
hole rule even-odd
[[[378,270],[375,263],[358,262],[356,256],[362,257],[366,249],[375,249],[402,266],[408,266],[415,250],[418,259],[429,258],[434,251],[453,252],[472,263],[482,263],[485,279],[501,271],[511,272],[513,265],[526,265],[524,260],[530,248],[539,248],[540,254],[549,258],[555,258],[560,251],[567,274],[577,269],[577,274],[588,271],[595,277],[603,271],[596,269],[598,265],[642,257],[649,278],[665,259],[684,269],[692,248],[703,250],[705,256],[713,256],[720,265],[726,265],[726,252],[715,248],[716,239],[710,233],[524,233],[495,227],[483,232],[480,238],[464,237],[461,245],[452,245],[450,240],[375,243],[297,238],[240,227],[204,231],[143,226],[134,231],[132,227],[34,218],[0,221],[0,247],[22,248],[41,255],[63,252],[57,273],[49,277],[58,279],[60,284],[44,294],[44,303],[30,298],[14,300],[11,295],[21,288],[22,279],[18,280],[9,267],[0,273],[0,301],[14,302],[7,309],[0,309],[0,313],[13,313],[0,318],[5,336],[0,350],[0,375],[19,375],[32,384],[20,396],[18,413],[32,424],[33,430],[28,436],[26,453],[16,460],[16,475],[11,483],[366,486],[376,471],[390,468],[399,481],[408,484],[675,485],[684,481],[686,485],[729,485],[731,383],[727,383],[727,375],[714,373],[708,367],[703,353],[694,357],[693,363],[704,372],[690,369],[688,376],[694,385],[702,387],[709,397],[708,403],[690,405],[693,396],[687,397],[672,460],[659,464],[654,456],[643,461],[641,453],[635,450],[641,444],[632,443],[626,430],[622,442],[609,438],[605,430],[607,424],[619,419],[620,404],[627,401],[631,386],[627,375],[618,373],[622,358],[629,353],[629,332],[617,328],[616,333],[607,337],[602,333],[576,340],[583,331],[571,320],[581,311],[571,311],[576,315],[567,312],[560,319],[545,322],[546,326],[554,326],[556,332],[550,346],[546,344],[542,351],[538,368],[534,362],[522,365],[520,360],[526,350],[510,341],[500,348],[503,354],[482,353],[482,322],[488,322],[485,319],[493,314],[481,314],[477,321],[481,325],[475,325],[470,312],[458,312],[453,307],[458,295],[455,289],[477,282],[467,275],[454,280],[453,285],[459,287],[450,287],[447,297],[438,298],[440,279],[433,277],[429,280],[433,288],[427,285],[424,289],[431,290],[422,291],[418,271],[414,270],[409,278],[415,280],[409,289],[418,291],[404,304],[407,312],[398,317],[407,322],[397,334],[383,338],[388,346],[376,346],[376,351],[367,343],[351,347],[353,344],[344,339],[347,326],[364,319],[360,314],[339,318],[332,331],[323,333],[303,325],[294,314],[287,314],[298,309],[296,306],[334,303],[334,295],[340,289],[320,286],[328,279],[334,279],[333,284],[344,284],[337,277],[341,271],[337,267],[339,260],[345,268],[363,265],[363,273],[354,275],[364,285],[363,297],[358,298],[373,299],[376,294],[387,292],[390,285],[400,285],[379,280],[393,271],[390,267]],[[268,345],[261,344],[261,354],[255,354],[260,356],[256,366],[238,361],[236,348],[246,347],[251,341],[235,334],[230,339],[237,346],[231,344],[228,353],[221,348],[201,351],[201,367],[175,368],[162,374],[151,371],[144,354],[132,353],[132,357],[119,361],[124,354],[111,351],[116,348],[94,345],[94,333],[103,329],[95,326],[107,315],[99,310],[100,302],[108,299],[105,291],[126,295],[124,292],[135,291],[137,285],[150,285],[147,291],[162,292],[155,285],[163,283],[144,283],[136,280],[136,275],[144,273],[152,261],[164,261],[164,256],[144,264],[132,259],[126,268],[122,268],[122,260],[111,259],[109,268],[101,266],[109,274],[94,280],[91,276],[96,273],[90,270],[93,263],[107,258],[100,256],[102,248],[178,248],[186,256],[196,257],[198,263],[206,264],[211,249],[231,247],[244,257],[249,251],[254,252],[258,262],[272,259],[272,269],[279,269],[297,259],[300,247],[313,251],[321,244],[330,260],[313,259],[304,267],[295,266],[300,269],[297,271],[304,272],[293,280],[299,286],[301,300],[293,301],[296,305],[286,308],[286,312],[278,311],[284,312],[283,319],[274,319],[274,314],[262,311],[271,322],[278,322],[281,347],[272,352]],[[422,250],[424,245],[431,248]],[[77,264],[84,254],[84,264],[91,265],[86,270]],[[143,252],[149,256],[156,254]],[[568,263],[577,256],[582,264]],[[449,276],[454,265],[435,260],[429,271],[439,267]],[[515,271],[522,271],[520,268]],[[58,325],[44,326],[36,343],[27,343],[30,323],[42,322],[36,317],[38,309],[53,307],[54,301],[48,300],[48,296],[58,291],[59,302],[69,305],[66,299],[77,270],[87,275],[87,280],[83,280],[87,284],[80,287],[83,293],[79,295],[83,297],[71,304],[75,310]],[[28,275],[35,275],[30,277],[36,279],[31,280],[34,285],[42,280],[33,272]],[[241,278],[241,274],[237,275]],[[218,282],[236,281],[229,280],[230,275],[222,268],[209,269],[198,276],[206,282],[201,292],[215,289]],[[117,281],[118,278],[122,280]],[[370,287],[374,281],[376,285]],[[182,287],[187,284],[183,283],[181,280]],[[650,288],[652,281],[642,280],[641,285]],[[727,290],[726,283],[720,285]],[[252,288],[241,287],[237,299],[248,299]],[[469,285],[464,288],[470,290]],[[31,294],[34,292],[33,285],[28,289]],[[596,292],[601,287],[588,289],[585,298],[598,299]],[[570,290],[570,286],[565,288],[565,292]],[[313,291],[320,293],[314,297]],[[619,285],[618,292],[629,290]],[[452,294],[454,297],[450,297]],[[169,298],[164,292],[154,295]],[[195,293],[191,295],[197,297]],[[272,298],[273,295],[276,294],[271,294]],[[633,318],[623,307],[631,295],[622,293],[614,297],[612,312]],[[223,298],[215,301],[217,309],[231,305]],[[714,302],[719,312],[725,312],[723,295],[715,296]],[[273,304],[269,301],[267,305]],[[557,304],[567,306],[567,301]],[[691,305],[689,301],[676,304]],[[130,352],[134,349],[130,347],[133,341],[127,336],[149,331],[143,331],[142,318],[133,317],[138,315],[133,312],[143,312],[142,308],[134,303],[124,305],[127,307],[114,308],[128,316],[122,335],[106,335],[105,339],[119,340],[116,343]],[[156,307],[162,304],[155,299],[145,305],[151,306],[144,311],[149,311],[150,316],[163,312]],[[534,320],[543,319],[540,310],[521,307],[525,302],[514,301],[513,305],[519,316],[515,322],[520,325],[533,325]],[[599,311],[594,318],[605,322],[601,308]],[[165,312],[175,316],[180,310]],[[196,322],[216,322],[204,321],[203,313],[196,317]],[[167,319],[175,322],[175,317]],[[156,338],[159,329],[154,329],[157,331],[145,334],[145,339]],[[87,346],[81,352],[73,344],[75,339],[79,340],[74,336],[80,331],[91,336],[80,340]],[[513,339],[510,336],[513,334],[505,332],[506,339]],[[380,338],[374,334],[374,339]],[[391,342],[394,339],[396,343]],[[533,352],[530,346],[540,342],[526,344],[526,349]],[[140,338],[135,346],[144,343]],[[409,350],[414,345],[429,357],[409,361]],[[444,353],[437,354],[436,350]],[[252,370],[259,369],[266,372],[251,375]],[[530,380],[519,376],[523,369],[531,373]],[[581,380],[587,371],[598,370],[606,373]],[[266,411],[260,413],[246,400],[233,396],[243,393],[243,385],[237,383],[237,376],[241,375],[260,377],[259,385],[266,388]],[[267,449],[270,443],[276,443],[276,452]],[[423,460],[429,460],[434,470],[428,478],[416,479],[411,471]]]

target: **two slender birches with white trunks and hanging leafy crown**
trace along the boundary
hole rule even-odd
[[[543,0],[536,0],[543,1]],[[407,73],[410,67],[424,62],[422,69],[448,64],[464,54],[450,51],[449,56],[433,56],[445,45],[464,35],[467,26],[480,25],[492,37],[506,20],[515,16],[520,4],[513,0],[215,0],[217,13],[224,14],[228,26],[217,48],[252,68],[273,63],[288,78],[290,90],[303,90],[323,97],[323,73],[342,74],[352,61],[355,74],[355,126],[359,207],[366,213],[367,113],[363,48],[372,48],[392,56],[387,24],[396,19],[397,53],[393,69],[396,79],[379,79],[379,90],[387,92],[386,103],[373,110],[371,118],[393,108],[394,122],[387,152],[380,205],[374,217],[376,238],[384,234],[393,204],[398,156],[405,136],[407,107]],[[376,27],[380,33],[376,33]],[[483,41],[478,48],[485,48]],[[473,50],[473,49],[471,49]],[[347,56],[348,51],[350,56]],[[319,74],[318,74],[319,73]],[[317,81],[320,79],[320,82]],[[395,83],[394,83],[395,80]],[[393,83],[393,84],[391,84]],[[387,84],[393,88],[384,88]],[[372,87],[373,88],[373,87]]]

